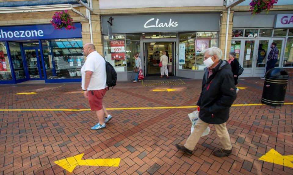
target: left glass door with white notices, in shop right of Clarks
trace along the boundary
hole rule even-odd
[[[241,57],[240,59],[242,66],[244,68],[243,77],[252,77],[253,76],[253,67],[255,64],[254,58],[255,56],[255,43],[256,39],[243,39],[243,44],[241,47],[241,50],[243,52],[240,53]]]

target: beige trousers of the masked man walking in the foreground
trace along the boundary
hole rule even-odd
[[[202,121],[200,118],[198,118],[193,132],[190,134],[188,139],[186,140],[186,143],[184,145],[185,148],[189,150],[194,150],[198,140],[201,138],[202,133],[204,130],[208,127],[208,123]],[[220,143],[222,145],[222,149],[225,150],[231,150],[232,145],[230,141],[229,132],[226,128],[226,123],[222,123],[220,125],[214,125],[216,133],[219,137]]]

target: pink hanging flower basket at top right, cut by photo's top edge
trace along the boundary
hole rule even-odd
[[[278,0],[252,0],[251,3],[249,3],[250,12],[252,15],[258,14],[264,10],[266,10],[266,13],[269,13],[269,9],[273,8],[274,4],[277,4]]]

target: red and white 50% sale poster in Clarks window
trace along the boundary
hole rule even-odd
[[[110,42],[111,59],[125,60],[125,41],[115,40]]]

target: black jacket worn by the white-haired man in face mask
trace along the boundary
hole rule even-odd
[[[228,120],[230,107],[236,99],[231,66],[227,61],[220,60],[209,78],[208,69],[204,70],[201,96],[197,101],[199,118],[206,123],[222,124]]]

